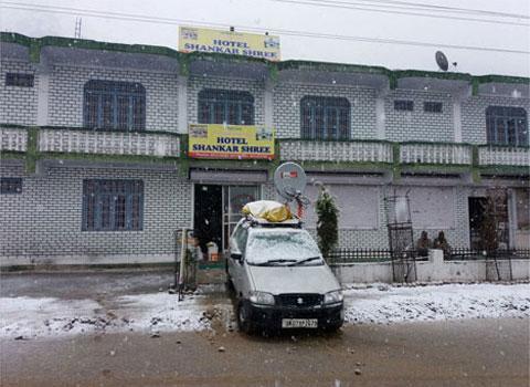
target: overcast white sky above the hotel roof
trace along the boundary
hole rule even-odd
[[[434,53],[445,52],[449,62],[457,62],[456,71],[476,75],[505,74],[530,76],[530,1],[528,0],[317,0],[362,9],[316,7],[315,0],[1,0],[0,28],[30,36],[74,36],[76,15],[83,19],[82,38],[108,42],[142,43],[177,48],[178,21],[183,25],[221,23],[271,30],[306,31],[349,36],[365,36],[435,43],[435,46],[385,44],[352,40],[315,39],[279,34],[282,59],[312,60],[354,64],[382,65],[389,69],[436,71]],[[392,2],[401,1],[402,3]],[[298,3],[294,3],[298,2]],[[306,2],[299,3],[299,2]],[[403,4],[405,2],[406,4]],[[432,10],[412,10],[410,3],[436,4],[454,8],[487,10],[523,15],[499,18],[468,13],[434,13]],[[59,13],[38,11],[39,6],[62,7]],[[382,7],[381,7],[382,6]],[[21,10],[20,8],[25,8]],[[367,11],[378,7],[380,12]],[[394,7],[394,8],[391,8]],[[395,8],[401,7],[401,8]],[[403,8],[405,7],[405,8]],[[72,11],[72,9],[77,9]],[[108,19],[86,14],[86,11],[117,12],[141,17],[177,19],[170,22],[141,22]],[[386,11],[436,14],[442,18],[386,13]],[[382,11],[382,12],[381,12]],[[107,13],[109,15],[109,13]],[[453,18],[489,19],[526,25],[485,23]],[[524,51],[507,53],[456,49],[443,45],[465,45]]]

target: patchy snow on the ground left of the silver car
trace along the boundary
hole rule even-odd
[[[127,295],[105,306],[94,300],[0,297],[0,337],[201,331],[210,322],[197,297],[178,302],[168,293]]]

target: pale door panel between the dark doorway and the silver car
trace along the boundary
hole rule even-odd
[[[250,201],[259,199],[258,186],[223,187],[223,250],[229,248],[229,238],[241,219],[241,209]]]

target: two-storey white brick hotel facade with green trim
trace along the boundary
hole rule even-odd
[[[309,199],[337,197],[340,247],[386,248],[384,199],[407,194],[415,237],[479,248],[494,205],[500,243],[528,249],[528,79],[13,33],[0,49],[2,265],[171,261],[184,227],[223,250],[289,160]],[[190,158],[197,123],[274,127],[275,159]]]

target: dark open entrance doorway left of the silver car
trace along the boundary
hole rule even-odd
[[[203,257],[208,257],[209,242],[214,242],[219,251],[223,241],[223,190],[222,186],[195,185],[193,224]]]

